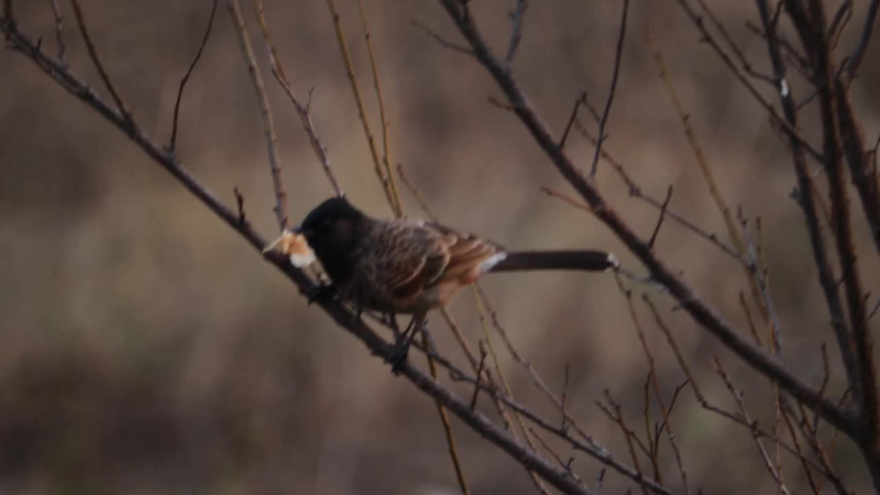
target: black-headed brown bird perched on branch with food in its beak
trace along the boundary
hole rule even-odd
[[[614,255],[603,251],[510,251],[436,222],[373,218],[344,196],[319,203],[292,233],[304,238],[332,282],[319,285],[310,300],[335,294],[354,305],[356,318],[363,309],[413,315],[404,333],[396,335],[394,373],[400,372],[429,311],[445,307],[462,288],[487,273],[620,267]],[[303,255],[301,248],[291,254],[295,264],[311,260],[311,253]]]

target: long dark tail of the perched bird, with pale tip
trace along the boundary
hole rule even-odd
[[[620,262],[603,251],[515,251],[489,271],[586,270],[617,268]]]

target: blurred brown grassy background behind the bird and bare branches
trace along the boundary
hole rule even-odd
[[[374,133],[378,107],[356,3],[340,0],[341,22]],[[55,53],[48,2],[16,2],[19,24]],[[444,223],[516,248],[582,247],[616,252],[643,269],[597,220],[549,198],[562,181],[517,119],[490,105],[502,94],[485,70],[440,47],[411,26],[418,19],[451,41],[457,32],[434,2],[365,2],[390,122],[392,163],[401,163]],[[496,53],[510,39],[514,2],[472,2]],[[708,2],[756,70],[769,72],[749,2]],[[865,3],[841,38],[846,55],[862,27]],[[210,3],[83,0],[99,54],[136,121],[154,140],[170,137],[180,77],[202,37]],[[611,80],[620,2],[534,2],[514,73],[551,129],[561,134],[579,92],[602,107]],[[189,81],[180,114],[178,152],[216,195],[234,207],[245,198],[249,220],[267,238],[277,228],[259,110],[221,2],[214,33]],[[833,11],[837,5],[829,3]],[[249,2],[242,2],[277,124],[294,223],[330,188],[290,102],[268,71]],[[71,68],[105,95],[62,3]],[[332,19],[323,2],[266,0],[282,63],[298,95],[312,91],[312,119],[341,186],[365,211],[388,216],[358,120]],[[606,150],[642,190],[723,240],[729,236],[693,159],[650,49],[650,26],[723,196],[765,226],[771,291],[788,365],[818,385],[820,345],[829,344],[832,386],[842,392],[839,353],[821,298],[786,147],[764,111],[704,43],[677,5],[634,2]],[[851,92],[866,139],[880,130],[880,52],[869,48]],[[0,51],[0,492],[2,493],[417,493],[458,492],[434,404],[362,344],[338,328],[277,270],[179,183],[99,115],[55,85],[25,57]],[[773,88],[756,82],[768,100]],[[874,89],[871,89],[874,88]],[[809,91],[795,84],[800,98]],[[109,99],[108,99],[109,100]],[[805,111],[804,134],[814,108]],[[595,129],[588,115],[582,122]],[[567,151],[587,169],[593,147],[575,131]],[[823,182],[824,183],[824,182]],[[630,198],[600,165],[598,187],[647,239],[657,211]],[[401,190],[407,215],[422,216]],[[855,205],[856,202],[853,202]],[[752,221],[753,224],[753,221]],[[854,228],[865,288],[880,292],[880,273],[861,210]],[[737,294],[743,271],[705,240],[665,222],[656,252],[736,327],[745,329]],[[611,275],[530,273],[488,277],[484,287],[517,349],[561,392],[570,366],[568,407],[584,429],[630,463],[620,429],[596,407],[607,388],[631,425],[641,425],[648,370],[633,322]],[[672,302],[649,287],[635,301],[664,393],[684,380],[663,335],[641,303],[657,302],[710,400],[734,403],[708,359],[717,354],[762,425],[772,425],[769,386]],[[482,337],[473,295],[451,307],[472,342]],[[872,323],[876,326],[875,319]],[[466,361],[435,315],[441,351]],[[557,417],[528,373],[502,351],[515,395]],[[445,380],[445,378],[444,378]],[[447,380],[448,381],[448,380]],[[451,385],[461,395],[470,388]],[[667,395],[667,401],[669,396]],[[494,410],[480,400],[492,417]],[[653,414],[658,414],[656,407]],[[555,421],[556,419],[554,419]],[[474,493],[534,492],[506,454],[452,420]],[[686,389],[672,426],[693,487],[707,493],[775,490],[746,430],[702,410]],[[641,428],[641,427],[639,427]],[[641,430],[640,430],[641,431]],[[830,436],[825,425],[824,438]],[[573,455],[587,480],[597,462]],[[768,447],[769,448],[769,447]],[[680,489],[674,459],[661,469]],[[868,489],[854,447],[840,440],[833,459],[848,487]],[[642,466],[645,463],[642,461]],[[803,471],[783,456],[789,488],[807,488]],[[605,491],[626,484],[605,476]]]

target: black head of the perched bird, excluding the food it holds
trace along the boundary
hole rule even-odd
[[[332,197],[310,211],[296,231],[304,235],[327,274],[341,283],[340,278],[353,270],[350,255],[361,238],[363,222],[369,220],[345,198]]]

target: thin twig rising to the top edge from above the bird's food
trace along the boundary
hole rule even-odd
[[[260,70],[257,68],[257,62],[253,56],[253,48],[248,38],[245,19],[241,16],[238,0],[227,0],[226,8],[229,10],[232,22],[235,25],[235,32],[238,34],[238,45],[241,48],[241,54],[245,57],[247,73],[251,77],[257,103],[260,105],[260,116],[263,121],[263,133],[266,137],[269,157],[269,172],[272,174],[272,187],[275,189],[275,207],[273,211],[275,211],[275,218],[278,221],[278,228],[283,231],[290,225],[287,218],[287,191],[284,190],[281,158],[278,156],[278,139],[275,137],[275,122],[272,119],[272,110],[269,108],[266,86],[263,85],[263,78],[260,76]]]

